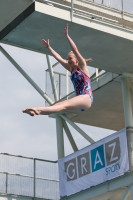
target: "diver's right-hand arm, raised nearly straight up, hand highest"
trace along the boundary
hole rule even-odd
[[[70,47],[71,47],[73,53],[75,54],[75,56],[77,57],[77,59],[79,61],[80,67],[82,67],[82,68],[86,67],[85,59],[82,57],[82,55],[78,51],[78,48],[77,48],[76,44],[74,43],[74,41],[68,35],[68,24],[65,27],[65,36],[66,36],[66,38],[67,38],[67,40],[68,40],[68,42],[70,44]]]

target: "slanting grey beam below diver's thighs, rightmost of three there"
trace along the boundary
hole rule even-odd
[[[86,140],[88,140],[91,144],[95,141],[89,137],[84,131],[82,131],[75,123],[73,123],[70,119],[68,119],[65,115],[60,115],[65,121],[67,121],[74,129],[76,129]]]

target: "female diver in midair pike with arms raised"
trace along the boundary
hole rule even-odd
[[[57,52],[50,46],[49,40],[42,40],[45,48],[48,48],[54,58],[63,65],[68,71],[71,72],[71,81],[74,86],[76,96],[62,102],[55,103],[48,107],[34,107],[26,108],[22,112],[31,116],[34,115],[49,115],[60,111],[86,111],[91,107],[93,102],[93,94],[91,89],[91,81],[89,70],[86,62],[91,59],[85,60],[78,51],[75,43],[68,35],[68,24],[65,27],[65,36],[70,44],[72,51],[67,55],[67,61],[64,60]]]

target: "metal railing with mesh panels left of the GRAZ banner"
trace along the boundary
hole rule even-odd
[[[0,193],[60,199],[57,161],[0,153]]]

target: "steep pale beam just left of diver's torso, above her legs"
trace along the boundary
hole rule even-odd
[[[48,63],[54,98],[55,98],[55,101],[58,101],[59,98],[58,98],[57,89],[56,89],[56,85],[55,85],[55,81],[54,81],[54,73],[53,73],[53,68],[52,68],[51,61],[50,61],[50,56],[46,55],[46,59],[47,59],[47,63]]]

